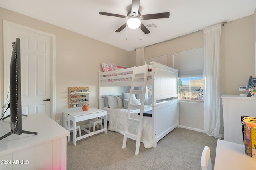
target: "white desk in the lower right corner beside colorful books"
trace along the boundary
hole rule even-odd
[[[218,139],[214,170],[256,170],[256,159],[244,153],[244,146]]]

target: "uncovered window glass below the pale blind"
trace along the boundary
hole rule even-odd
[[[204,78],[179,78],[179,99],[204,101]]]

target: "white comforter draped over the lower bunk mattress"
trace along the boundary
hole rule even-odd
[[[151,106],[145,105],[144,112],[150,111]],[[131,110],[131,117],[135,119],[139,119],[138,113],[139,109]],[[126,125],[126,115],[127,109],[112,109],[108,124],[108,130],[116,131],[122,135],[124,135],[125,125]],[[152,128],[152,117],[143,117],[142,123],[142,132],[140,142],[143,142],[145,148],[153,147],[153,128]],[[131,122],[128,128],[128,132],[132,134],[137,134],[138,132],[138,123]]]

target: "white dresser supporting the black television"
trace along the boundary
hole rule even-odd
[[[0,136],[10,130],[10,117],[0,121]],[[0,170],[66,170],[68,130],[43,113],[22,116],[22,130],[38,134],[0,140]]]

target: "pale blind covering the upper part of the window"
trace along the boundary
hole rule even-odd
[[[174,53],[173,67],[179,70],[179,78],[203,77],[204,48]]]

